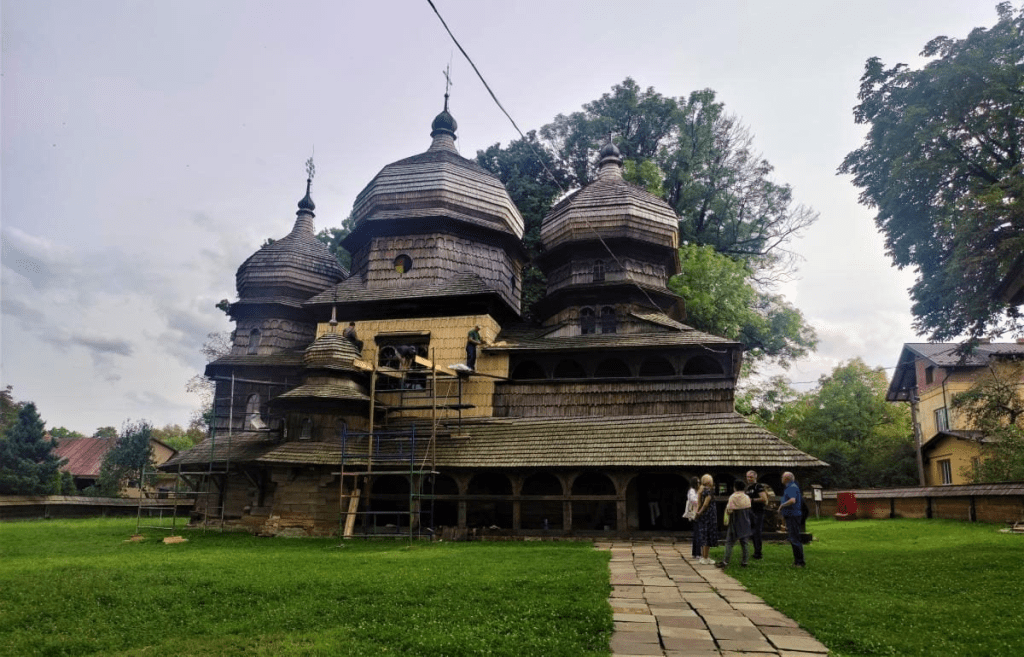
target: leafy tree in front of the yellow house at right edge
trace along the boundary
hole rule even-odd
[[[983,458],[964,474],[975,483],[1024,481],[1024,363],[992,363],[950,405],[985,436]]]

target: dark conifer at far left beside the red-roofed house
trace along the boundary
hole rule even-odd
[[[53,453],[57,442],[46,439],[44,427],[36,404],[20,404],[14,422],[0,438],[0,494],[61,492],[60,466],[67,462]]]

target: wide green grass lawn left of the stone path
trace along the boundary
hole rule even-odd
[[[0,655],[607,655],[590,543],[265,539],[0,524]]]

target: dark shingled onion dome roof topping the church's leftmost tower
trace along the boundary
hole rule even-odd
[[[292,231],[265,245],[249,257],[234,274],[239,299],[304,301],[345,277],[337,259],[313,227],[312,180],[306,180],[306,195],[299,201]]]

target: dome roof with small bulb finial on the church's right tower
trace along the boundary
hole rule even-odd
[[[597,179],[552,208],[541,224],[548,251],[572,242],[632,238],[676,249],[679,218],[672,207],[623,178],[623,160],[610,142],[601,148]]]

